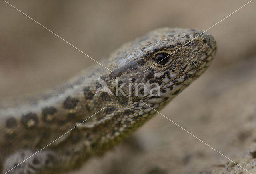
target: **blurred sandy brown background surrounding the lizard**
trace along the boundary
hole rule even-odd
[[[100,61],[159,27],[208,29],[249,0],[8,2]],[[215,60],[161,111],[241,165],[253,160],[249,151],[256,142],[255,8],[252,1],[208,31],[217,41]],[[4,1],[0,41],[0,98],[46,90],[95,63]],[[127,141],[70,174],[227,172],[227,161],[156,115]]]

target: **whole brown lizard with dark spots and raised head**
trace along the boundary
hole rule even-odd
[[[96,64],[46,92],[2,100],[0,172],[63,173],[104,154],[197,79],[215,54],[210,34],[164,27],[120,46],[103,62],[108,69]]]

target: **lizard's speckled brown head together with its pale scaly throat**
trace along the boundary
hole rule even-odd
[[[201,33],[193,29],[157,29],[126,43],[110,56],[107,67],[112,72],[98,80],[104,92],[95,96],[99,101],[96,104],[112,102],[106,108],[106,117],[94,117],[94,122],[110,127],[111,132],[103,133],[105,137],[128,135],[208,68],[216,53],[216,41]]]

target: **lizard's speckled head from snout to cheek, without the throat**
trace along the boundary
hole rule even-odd
[[[212,62],[216,41],[202,32],[161,28],[126,43],[110,57],[112,91],[130,96],[135,104],[164,106]]]

